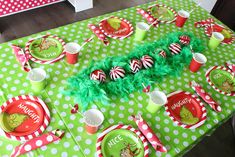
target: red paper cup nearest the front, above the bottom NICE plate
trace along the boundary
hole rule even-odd
[[[87,133],[94,134],[104,121],[104,115],[97,109],[90,109],[84,112],[85,129]]]

